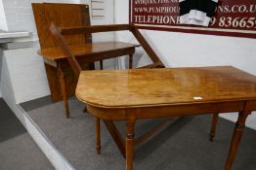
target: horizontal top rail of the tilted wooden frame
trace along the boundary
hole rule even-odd
[[[73,34],[86,34],[86,33],[96,33],[96,32],[124,31],[124,30],[131,30],[131,26],[132,25],[129,25],[129,24],[109,24],[109,25],[70,27],[70,28],[61,28],[61,33],[63,35],[73,35]]]

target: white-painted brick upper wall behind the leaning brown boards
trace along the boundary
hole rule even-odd
[[[0,0],[0,14],[1,1],[3,1],[3,8],[5,11],[8,31],[29,31],[33,33],[33,39],[37,39],[36,27],[34,24],[34,17],[31,8],[31,3],[40,2],[56,2],[56,3],[82,3],[91,6],[91,0]],[[113,0],[105,0],[106,17],[104,19],[92,19],[91,23],[95,24],[110,24],[113,23]],[[90,8],[91,9],[91,8]],[[1,17],[1,16],[0,16]],[[0,22],[1,23],[1,22]],[[104,38],[112,39],[112,34],[99,34],[101,40]],[[97,35],[95,36],[97,41]]]

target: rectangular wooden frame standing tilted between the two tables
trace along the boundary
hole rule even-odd
[[[106,32],[106,31],[118,31],[118,30],[130,30],[133,32],[135,37],[138,39],[138,41],[141,43],[142,47],[148,52],[149,57],[153,61],[152,64],[149,64],[148,66],[141,67],[141,69],[144,68],[164,68],[163,63],[160,61],[158,56],[152,49],[150,48],[148,42],[144,39],[142,34],[139,32],[139,30],[133,26],[133,25],[102,25],[102,26],[88,26],[88,27],[79,27],[79,28],[63,28],[61,31],[59,28],[52,23],[50,26],[50,31],[58,41],[62,51],[64,52],[64,55],[70,64],[76,78],[79,77],[80,72],[82,71],[81,66],[77,62],[74,54],[69,50],[67,43],[64,40],[64,37],[62,34],[70,35],[70,34],[81,34],[81,33],[94,33],[94,32]],[[131,60],[130,64],[131,65]],[[95,119],[95,126],[96,126],[96,151],[99,154],[101,152],[101,136],[100,136],[100,119]],[[120,142],[120,134],[117,131],[116,127],[111,121],[104,120],[107,130],[109,131],[110,135],[114,139],[115,143],[117,144],[120,152],[125,155],[123,145]],[[165,127],[167,127],[172,120],[167,120],[164,124],[158,125],[155,129],[152,129],[149,131],[143,138],[138,140],[138,144],[144,143],[147,141],[147,139],[151,138],[153,135],[156,135],[161,130],[163,130]]]

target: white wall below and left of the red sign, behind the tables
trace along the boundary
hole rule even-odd
[[[116,23],[128,23],[128,1],[115,1]],[[165,31],[142,30],[149,44],[168,67],[233,65],[256,75],[256,40],[247,38],[186,34]],[[120,41],[136,42],[131,34],[116,34]],[[149,61],[147,54],[139,50],[137,65]],[[235,120],[235,115],[225,118]],[[252,115],[248,125],[256,129],[256,116]]]

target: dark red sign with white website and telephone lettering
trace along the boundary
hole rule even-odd
[[[178,0],[130,0],[130,22],[140,28],[256,38],[256,1],[222,0],[208,27],[179,24]]]

